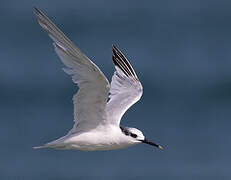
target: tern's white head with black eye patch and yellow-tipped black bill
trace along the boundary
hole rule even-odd
[[[145,136],[143,135],[143,133],[139,130],[139,129],[136,129],[136,128],[130,128],[130,127],[120,127],[120,129],[122,130],[122,132],[126,135],[126,136],[129,136],[131,138],[133,138],[132,140],[137,142],[137,143],[145,143],[145,144],[149,144],[149,145],[152,145],[152,146],[155,146],[159,149],[163,149],[162,146],[154,143],[154,142],[151,142],[149,140],[147,140],[145,138]]]

